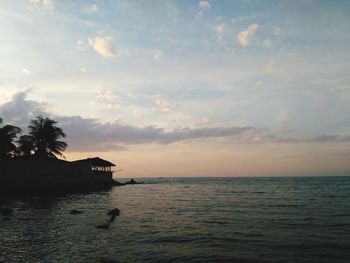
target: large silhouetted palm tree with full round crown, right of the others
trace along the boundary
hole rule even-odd
[[[63,156],[62,152],[66,149],[67,144],[58,139],[65,137],[66,134],[61,128],[55,126],[56,123],[57,121],[43,116],[38,116],[30,122],[29,134],[32,137],[37,157]]]

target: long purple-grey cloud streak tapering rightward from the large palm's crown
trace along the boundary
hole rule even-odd
[[[155,126],[135,127],[119,122],[100,123],[96,119],[79,116],[57,117],[57,120],[67,133],[67,142],[73,151],[111,151],[132,144],[171,144],[223,137],[244,140],[246,143],[249,141],[248,137],[258,132],[251,127],[238,126],[183,128],[167,132]]]

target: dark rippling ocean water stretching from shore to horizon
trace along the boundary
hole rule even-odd
[[[0,262],[350,262],[350,177],[144,181],[2,198]]]

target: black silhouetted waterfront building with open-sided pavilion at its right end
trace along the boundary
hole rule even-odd
[[[77,161],[59,159],[0,160],[0,192],[3,189],[74,189],[121,185],[113,180],[111,162],[98,157]]]

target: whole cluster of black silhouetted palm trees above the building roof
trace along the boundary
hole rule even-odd
[[[4,125],[0,118],[0,159],[64,157],[67,143],[60,139],[66,134],[56,124],[54,119],[37,116],[30,121],[29,134],[19,136],[21,128]]]

